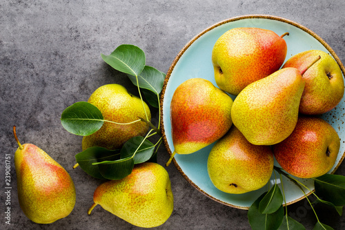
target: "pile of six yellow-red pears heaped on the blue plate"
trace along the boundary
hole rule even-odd
[[[176,153],[196,153],[215,143],[208,155],[209,178],[233,194],[265,186],[275,160],[297,178],[332,169],[340,139],[320,115],[342,100],[342,70],[322,50],[299,52],[286,61],[284,39],[290,36],[233,28],[217,39],[212,51],[217,86],[187,79],[172,96],[175,151],[167,165]]]

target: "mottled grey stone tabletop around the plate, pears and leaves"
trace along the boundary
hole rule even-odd
[[[81,169],[72,170],[81,137],[65,131],[60,123],[64,108],[86,101],[99,86],[123,84],[136,93],[128,78],[112,70],[100,54],[121,44],[146,52],[146,64],[167,72],[183,46],[201,30],[239,15],[265,14],[301,23],[322,37],[345,63],[345,1],[19,1],[0,2],[0,229],[137,229],[97,207],[92,215],[93,191],[100,180]],[[158,111],[152,114],[157,117]],[[14,171],[17,144],[47,151],[70,173],[77,188],[72,213],[53,224],[34,224],[19,208]],[[12,154],[11,224],[5,224],[5,154]],[[158,161],[168,153],[159,148]],[[247,211],[210,200],[181,176],[174,165],[166,168],[175,195],[175,209],[157,229],[250,229]],[[337,173],[345,175],[342,164]],[[306,200],[289,206],[289,213],[313,229],[316,222]],[[316,206],[322,222],[345,229],[345,217],[333,209]]]

